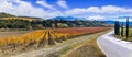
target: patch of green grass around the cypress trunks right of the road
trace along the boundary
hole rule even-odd
[[[119,35],[116,35],[116,37],[120,38],[120,39],[123,39],[123,41],[129,41],[129,42],[132,42],[132,29],[129,29],[129,37],[127,38],[127,35],[125,35],[125,29],[123,30],[123,36],[119,36]]]

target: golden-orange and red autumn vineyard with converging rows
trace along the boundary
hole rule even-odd
[[[45,45],[55,45],[63,41],[74,38],[76,36],[92,34],[106,31],[106,27],[79,27],[79,29],[54,29],[37,30],[26,33],[22,36],[12,36],[0,38],[0,49],[22,47],[44,47]]]

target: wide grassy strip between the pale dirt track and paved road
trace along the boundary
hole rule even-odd
[[[92,57],[106,57],[105,54],[99,49],[96,41],[98,36],[107,32],[109,31],[96,33],[92,38],[66,46],[62,50],[53,53],[47,57],[88,57],[89,55],[91,55]]]

